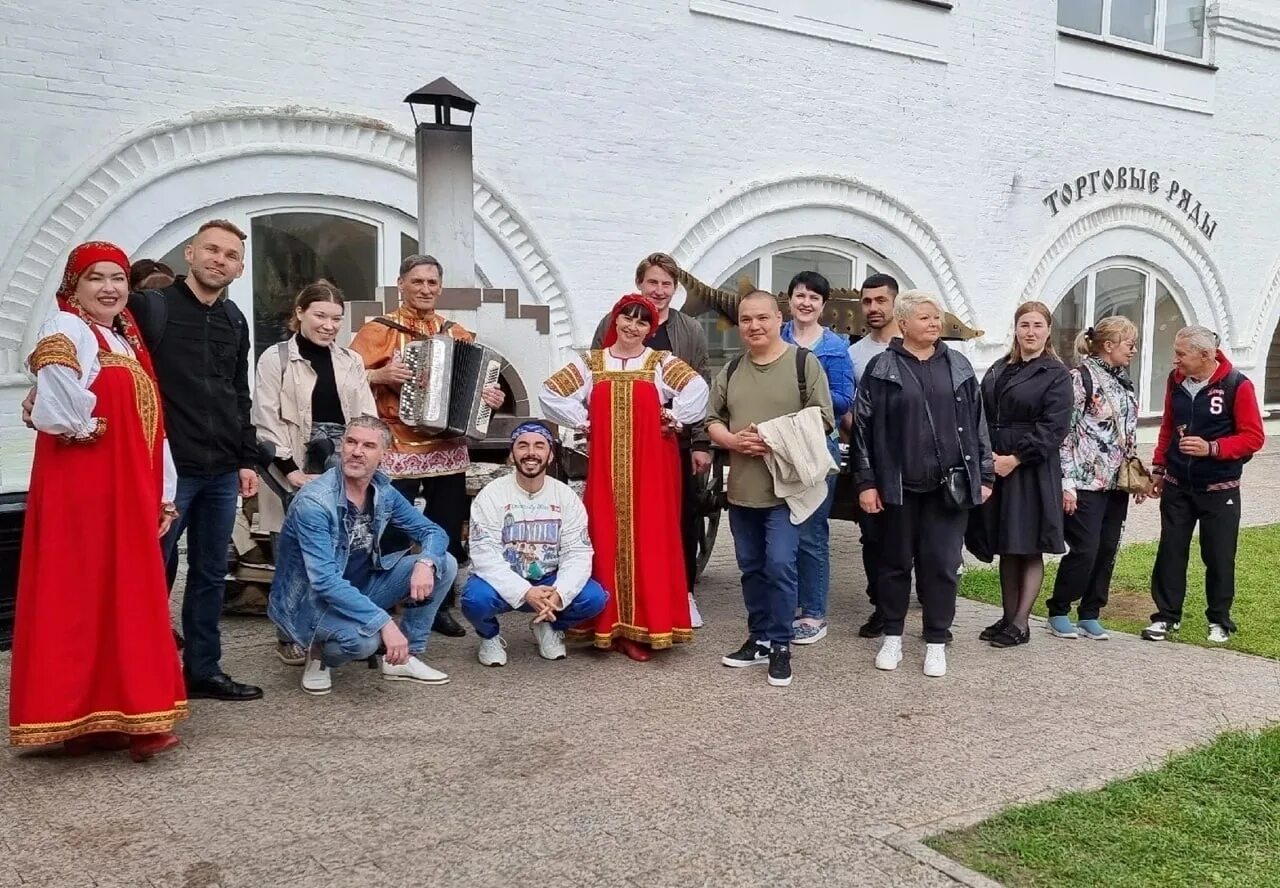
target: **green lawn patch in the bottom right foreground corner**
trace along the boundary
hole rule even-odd
[[[1280,729],[925,843],[1010,888],[1280,885]]]

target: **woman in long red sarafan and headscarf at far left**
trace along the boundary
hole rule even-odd
[[[38,432],[9,690],[13,746],[69,755],[178,745],[187,717],[160,537],[177,511],[151,358],[127,311],[129,261],[72,251],[27,360]]]

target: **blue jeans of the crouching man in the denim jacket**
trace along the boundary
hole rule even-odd
[[[422,654],[426,651],[426,641],[431,636],[435,612],[440,609],[444,596],[453,589],[453,581],[458,576],[458,563],[453,555],[445,553],[444,571],[435,578],[431,598],[425,601],[408,600],[408,581],[415,564],[417,564],[416,555],[404,555],[389,569],[374,571],[369,577],[369,586],[360,591],[387,612],[390,612],[397,604],[403,604],[399,628],[408,638],[408,653]],[[316,626],[312,644],[320,645],[320,660],[326,667],[334,668],[351,660],[369,659],[378,653],[381,641],[380,631],[366,633],[360,622],[347,619],[332,610],[324,610],[320,623]]]

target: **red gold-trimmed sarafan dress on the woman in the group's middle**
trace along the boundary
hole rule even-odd
[[[636,370],[607,370],[604,352],[584,358],[593,376],[591,438],[584,502],[595,550],[591,576],[609,603],[567,633],[609,647],[614,638],[671,647],[694,640],[680,540],[680,449],[663,434],[654,372],[666,352]]]

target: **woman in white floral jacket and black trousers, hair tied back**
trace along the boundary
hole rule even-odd
[[[1048,600],[1048,628],[1060,638],[1105,640],[1098,614],[1107,603],[1129,494],[1116,488],[1120,466],[1133,453],[1138,398],[1128,367],[1138,351],[1138,329],[1111,316],[1075,338],[1083,356],[1071,371],[1075,404],[1062,441],[1062,511],[1070,551],[1057,569]],[[1138,496],[1142,502],[1143,496]],[[1071,604],[1079,601],[1073,623]]]

